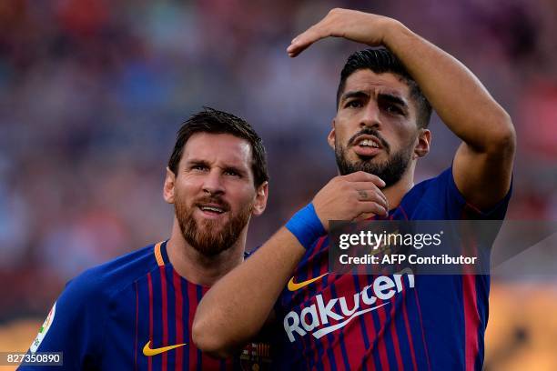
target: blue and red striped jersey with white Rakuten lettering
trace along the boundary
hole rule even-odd
[[[510,195],[482,212],[461,196],[449,168],[412,187],[390,219],[501,220]],[[285,287],[275,306],[278,369],[481,370],[489,276],[333,275],[328,269],[325,236],[296,268],[300,285]]]

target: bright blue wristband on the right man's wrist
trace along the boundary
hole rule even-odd
[[[311,203],[294,214],[286,224],[286,227],[292,235],[298,238],[299,243],[301,246],[304,246],[306,250],[309,249],[320,236],[327,235],[327,231],[325,231]]]

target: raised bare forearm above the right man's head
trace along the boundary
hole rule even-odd
[[[465,65],[400,22],[386,27],[384,45],[399,57],[455,135],[488,152],[514,134],[509,115]]]

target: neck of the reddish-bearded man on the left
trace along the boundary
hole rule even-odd
[[[248,226],[245,226],[236,243],[217,256],[204,256],[184,239],[175,217],[172,235],[167,242],[168,259],[177,274],[187,281],[213,286],[220,277],[244,261],[247,230]]]

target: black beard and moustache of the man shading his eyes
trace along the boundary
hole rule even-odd
[[[387,160],[374,162],[373,157],[358,155],[359,160],[350,162],[347,147],[352,145],[360,135],[374,135],[377,137],[388,155]],[[403,145],[399,151],[390,154],[390,145],[380,136],[379,132],[370,127],[365,127],[349,139],[346,147],[343,147],[338,142],[335,143],[335,157],[339,166],[339,173],[340,175],[348,175],[357,171],[364,171],[379,176],[385,182],[386,187],[392,186],[400,180],[410,165],[413,152],[412,142],[413,140],[408,145]]]

